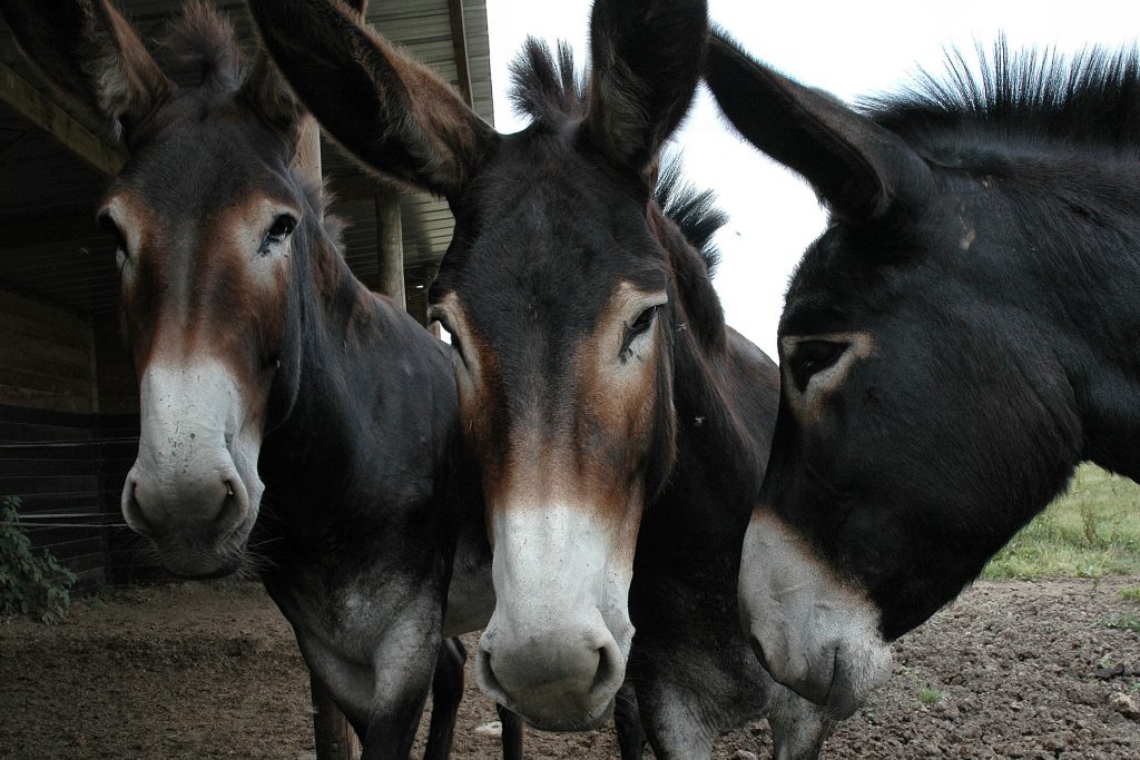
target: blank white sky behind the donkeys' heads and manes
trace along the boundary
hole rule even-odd
[[[564,39],[585,62],[589,0],[487,0],[487,14],[495,119],[513,132],[524,122],[506,99],[507,64],[528,34]],[[1067,51],[1140,35],[1140,2],[1130,0],[710,0],[709,15],[756,57],[848,100],[896,90],[918,65],[942,72],[945,47],[972,52],[999,32],[1015,49]],[[703,88],[675,142],[687,179],[715,189],[731,215],[715,280],[728,322],[775,358],[788,277],[823,213],[805,182],[735,137]]]

